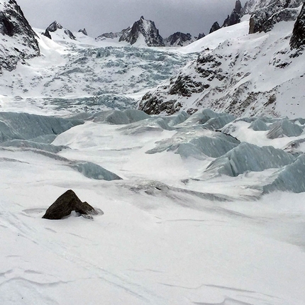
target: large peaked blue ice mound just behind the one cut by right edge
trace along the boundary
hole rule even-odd
[[[269,168],[281,168],[291,164],[295,159],[293,155],[273,146],[260,148],[243,142],[226,155],[211,162],[206,172],[237,177],[244,172],[262,172]]]

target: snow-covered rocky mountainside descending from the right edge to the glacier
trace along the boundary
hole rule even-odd
[[[251,1],[252,6],[245,6],[248,13],[249,7],[255,8],[251,16],[245,15],[241,23],[221,28],[186,47],[201,49],[201,55],[146,94],[139,109],[147,113],[194,113],[211,108],[238,116],[305,114],[304,52],[291,50],[289,45],[300,1],[282,1],[284,6],[279,5],[281,1],[270,2]],[[294,21],[266,17],[264,24],[272,24],[267,33],[248,34],[249,29],[253,32],[253,20],[259,20],[256,16],[269,7],[272,16],[292,12],[289,18],[294,17]]]

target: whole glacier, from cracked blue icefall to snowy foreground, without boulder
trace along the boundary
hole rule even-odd
[[[193,53],[82,39],[1,76],[0,304],[304,305],[305,119],[127,109]]]

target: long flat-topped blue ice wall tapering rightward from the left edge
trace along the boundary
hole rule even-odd
[[[8,140],[30,140],[40,135],[59,135],[84,123],[52,116],[38,116],[29,113],[0,113],[0,143]]]

